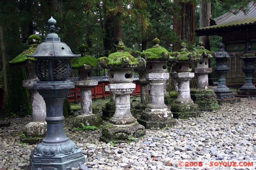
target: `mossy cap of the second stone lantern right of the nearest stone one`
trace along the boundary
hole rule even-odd
[[[173,59],[169,59],[169,62],[172,63],[191,63],[201,61],[203,56],[196,51],[188,51],[187,44],[181,43],[180,52],[174,51],[170,54],[173,56]]]

